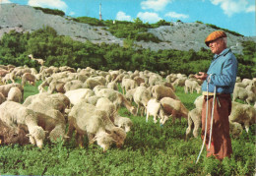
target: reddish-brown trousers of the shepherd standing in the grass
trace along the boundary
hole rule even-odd
[[[211,95],[208,98],[208,120],[207,120],[207,136],[206,147],[207,157],[214,155],[219,160],[223,160],[224,157],[230,157],[232,153],[231,139],[229,136],[229,121],[228,116],[231,112],[231,96],[230,94],[217,94],[214,105],[214,121],[211,147],[208,148],[210,128],[211,128],[211,116],[212,107],[214,102],[214,96]],[[202,109],[202,134],[201,138],[204,139],[205,135],[205,121],[206,121],[206,107],[207,96],[204,96],[203,109]]]

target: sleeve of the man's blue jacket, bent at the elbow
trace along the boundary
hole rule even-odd
[[[222,65],[220,74],[213,74],[210,83],[217,87],[228,87],[235,83],[237,72],[237,61],[235,58],[228,58]]]

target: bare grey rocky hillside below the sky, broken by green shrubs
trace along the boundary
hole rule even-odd
[[[69,35],[80,41],[91,40],[94,43],[118,43],[123,44],[122,38],[113,36],[109,31],[101,27],[93,27],[88,24],[81,24],[71,21],[69,18],[44,14],[40,10],[35,10],[31,6],[22,6],[17,4],[0,5],[0,37],[4,32],[15,29],[19,32],[32,31],[49,26],[55,29],[60,35]],[[201,47],[206,47],[204,39],[214,31],[209,26],[199,23],[173,23],[172,26],[163,26],[158,29],[149,29],[154,35],[158,36],[162,42],[144,42],[139,41],[135,44],[143,48],[152,50],[159,49],[177,49],[198,51]],[[227,33],[228,47],[233,52],[241,53],[241,42],[245,40],[254,40],[256,37],[236,36]]]

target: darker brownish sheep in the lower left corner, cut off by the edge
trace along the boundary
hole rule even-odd
[[[0,120],[0,145],[27,145],[29,138],[20,127],[11,127]]]

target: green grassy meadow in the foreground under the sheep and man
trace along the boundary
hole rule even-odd
[[[36,84],[37,86],[37,84]],[[37,93],[36,87],[26,86],[25,96]],[[188,109],[193,109],[197,93],[185,94],[176,88],[176,94]],[[183,118],[175,124],[168,120],[163,127],[146,123],[146,117],[132,116],[125,108],[119,114],[130,117],[134,123],[122,148],[115,146],[102,152],[97,145],[76,147],[59,142],[39,149],[32,145],[0,147],[1,175],[254,175],[255,173],[255,128],[232,139],[233,154],[221,163],[207,158],[204,150],[195,164],[201,139],[190,136],[184,141],[187,121]]]

